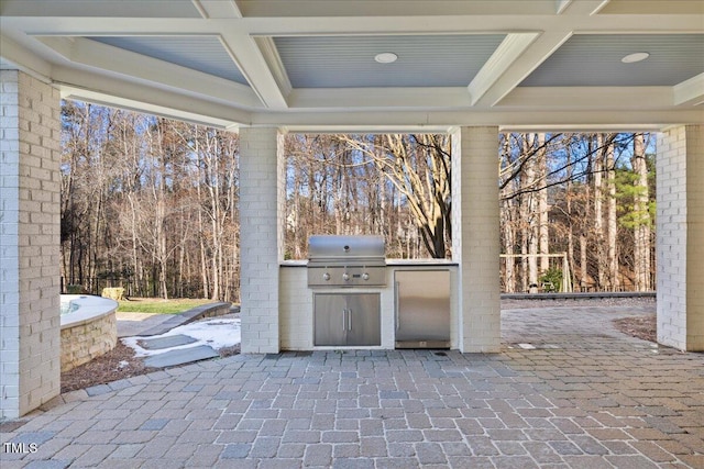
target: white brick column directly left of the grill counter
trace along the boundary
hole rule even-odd
[[[240,299],[242,353],[276,354],[278,266],[283,260],[283,135],[240,130]]]

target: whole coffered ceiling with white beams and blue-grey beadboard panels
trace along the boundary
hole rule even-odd
[[[2,68],[222,127],[704,123],[701,0],[2,0],[0,14]]]

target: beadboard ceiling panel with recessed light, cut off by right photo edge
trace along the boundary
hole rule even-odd
[[[642,62],[624,64],[634,53]],[[579,34],[568,40],[520,86],[674,86],[704,74],[704,34]]]

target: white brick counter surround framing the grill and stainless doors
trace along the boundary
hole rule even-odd
[[[314,292],[320,289],[308,287],[307,260],[285,260],[279,268],[279,340],[283,350],[312,350],[314,346]],[[382,345],[365,348],[395,348],[395,292],[397,270],[447,270],[451,278],[451,347],[458,347],[455,324],[458,321],[458,264],[446,259],[386,259],[385,287],[358,287],[358,293],[381,294]],[[328,293],[349,293],[349,288],[326,288]],[[360,348],[360,347],[352,347]]]

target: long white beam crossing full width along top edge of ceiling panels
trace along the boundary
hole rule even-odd
[[[579,3],[579,2],[578,2]],[[3,29],[9,22],[3,18]],[[512,33],[525,31],[590,31],[594,33],[695,33],[702,31],[696,14],[608,15],[458,15],[374,18],[84,18],[15,16],[12,29],[30,35],[144,35],[213,34],[237,30],[251,35],[354,35]]]

